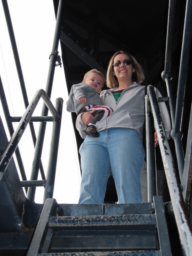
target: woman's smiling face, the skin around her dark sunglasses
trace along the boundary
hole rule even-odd
[[[113,74],[119,79],[131,79],[132,73],[135,72],[133,65],[126,65],[123,63],[124,60],[130,60],[130,57],[127,54],[118,54],[113,63],[120,61],[121,64],[117,67],[113,66]]]

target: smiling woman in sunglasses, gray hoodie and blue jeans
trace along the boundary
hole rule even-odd
[[[106,184],[112,172],[119,203],[142,202],[140,173],[145,158],[142,130],[145,120],[144,74],[136,59],[119,51],[111,58],[107,69],[107,87],[100,97],[114,112],[98,126],[98,138],[83,133],[94,118],[92,111],[79,115],[76,127],[85,138],[81,155],[82,181],[79,203],[103,203]],[[157,97],[161,97],[158,90]],[[159,104],[165,130],[171,130],[165,103]],[[156,145],[158,140],[155,137]]]

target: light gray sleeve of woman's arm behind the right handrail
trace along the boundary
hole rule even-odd
[[[155,87],[154,87],[154,89],[155,89],[156,96],[157,97],[162,97],[159,90]],[[165,128],[167,138],[170,139],[171,120],[170,120],[170,116],[169,116],[167,106],[166,106],[165,102],[158,102],[158,105],[159,105],[159,109],[160,109],[160,113],[161,113],[161,117],[162,117],[162,121],[163,121],[163,125],[164,125],[164,128]]]

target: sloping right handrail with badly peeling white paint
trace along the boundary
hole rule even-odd
[[[153,86],[147,88],[183,255],[192,255],[192,230]],[[149,153],[151,154],[151,152]]]

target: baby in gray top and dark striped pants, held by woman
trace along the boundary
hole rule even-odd
[[[97,126],[101,121],[108,117],[113,110],[108,106],[102,106],[102,101],[99,96],[101,89],[104,86],[104,75],[92,69],[84,76],[82,83],[73,85],[67,101],[67,111],[75,112],[77,115],[86,111],[95,110],[92,115],[94,119],[83,130],[87,135],[98,137],[99,132]]]

